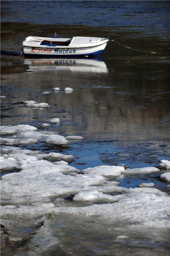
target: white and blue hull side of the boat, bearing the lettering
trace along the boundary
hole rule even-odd
[[[62,57],[74,57],[74,56],[89,56],[89,55],[100,55],[106,47],[106,43],[91,47],[32,47],[23,46],[24,55],[34,55],[34,56],[62,56]]]

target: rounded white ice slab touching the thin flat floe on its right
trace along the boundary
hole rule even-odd
[[[96,166],[93,168],[87,168],[82,170],[82,173],[84,174],[99,174],[104,177],[109,177],[109,176],[119,176],[122,172],[125,171],[125,168],[123,166],[110,166],[110,165],[100,165]]]

